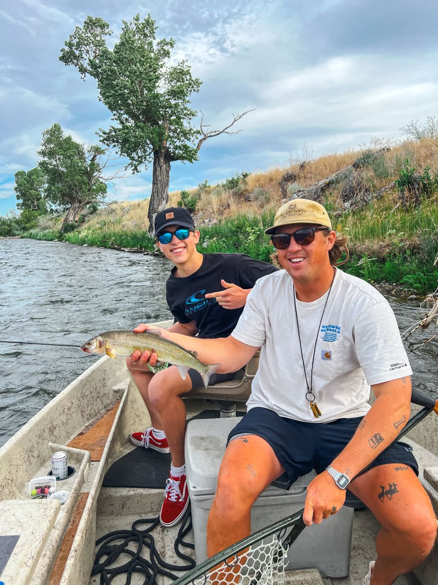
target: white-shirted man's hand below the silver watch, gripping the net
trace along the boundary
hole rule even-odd
[[[336,486],[328,472],[322,472],[312,479],[307,487],[303,521],[306,526],[312,522],[321,524],[323,519],[336,514],[345,502],[345,490]]]

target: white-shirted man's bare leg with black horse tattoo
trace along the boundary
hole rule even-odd
[[[436,538],[436,519],[418,477],[398,463],[373,467],[350,484],[382,528],[371,585],[392,585],[429,554]]]

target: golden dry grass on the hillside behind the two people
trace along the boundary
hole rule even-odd
[[[199,189],[194,189],[190,191],[191,195],[201,195],[196,209],[197,223],[201,225],[206,218],[225,219],[238,214],[256,216],[260,215],[260,211],[269,208],[277,209],[284,198],[280,181],[285,173],[293,172],[296,174],[296,180],[293,182],[295,186],[299,184],[303,188],[311,187],[318,181],[350,166],[367,150],[369,149],[325,154],[314,160],[294,161],[293,164],[285,168],[275,167],[265,172],[258,171],[250,174],[244,185],[232,191],[226,190],[223,185],[207,187],[201,194]],[[367,167],[361,170],[363,187],[369,188],[371,192],[376,192],[395,180],[406,158],[420,173],[426,166],[431,168],[431,173],[438,173],[438,140],[424,139],[420,142],[403,142],[392,146],[391,150],[383,155],[384,173],[381,170],[377,172],[379,169],[376,167]],[[341,189],[342,185],[336,185],[330,190],[328,196],[332,208],[335,210],[342,208]],[[262,190],[263,197],[254,197],[251,201],[251,194],[260,193]],[[169,207],[176,207],[179,200],[180,191],[169,193]],[[391,208],[395,205],[397,205],[397,194],[390,192],[385,194],[381,203],[374,203],[370,213],[378,215],[380,207],[389,206]],[[148,207],[148,199],[111,204],[90,216],[85,224],[86,228],[85,226],[84,228],[147,230]],[[351,221],[353,222],[353,219]],[[344,227],[352,231],[355,228],[354,225]]]

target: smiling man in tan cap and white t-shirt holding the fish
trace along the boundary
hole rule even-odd
[[[397,322],[380,293],[336,269],[346,240],[336,238],[324,207],[290,201],[266,233],[285,270],[256,283],[232,334],[190,343],[169,335],[204,363],[221,363],[219,371],[237,369],[261,347],[248,413],[221,464],[208,554],[249,534],[251,506],[273,479],[286,470],[293,483],[314,467],[305,524],[335,514],[348,487],[382,526],[364,583],[391,585],[436,536],[415,458],[404,443],[385,450],[408,420],[411,398]],[[392,497],[379,497],[382,488]]]

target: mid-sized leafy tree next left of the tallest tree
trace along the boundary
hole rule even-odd
[[[61,231],[67,223],[78,222],[89,204],[105,199],[112,177],[103,171],[109,156],[101,146],[85,147],[65,135],[59,124],[44,130],[38,167],[46,180],[46,197],[54,207],[67,209]]]

